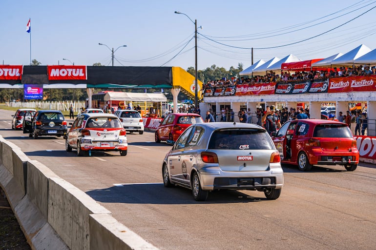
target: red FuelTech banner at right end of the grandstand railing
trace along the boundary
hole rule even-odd
[[[330,78],[328,93],[375,91],[376,76]]]

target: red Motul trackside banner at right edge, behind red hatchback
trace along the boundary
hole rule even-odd
[[[376,163],[376,137],[366,135],[354,137],[356,139],[356,147],[359,150],[360,160],[364,162]]]

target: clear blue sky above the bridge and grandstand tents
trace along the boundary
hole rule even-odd
[[[110,66],[110,49],[98,45],[104,43],[111,49],[127,45],[114,53],[115,66],[194,67],[194,24],[174,11],[203,26],[199,70],[238,63],[245,69],[251,47],[254,62],[289,54],[326,58],[360,44],[376,48],[375,6],[373,0],[1,0],[0,64],[30,63],[31,18],[31,58],[42,65],[70,64],[66,58],[75,65]]]

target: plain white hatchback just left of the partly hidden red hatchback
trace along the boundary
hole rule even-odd
[[[144,120],[137,110],[121,109],[115,112],[123,124],[123,128],[129,133],[138,132],[144,134]]]

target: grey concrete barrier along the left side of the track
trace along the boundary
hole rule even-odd
[[[1,135],[0,186],[33,250],[158,250]]]

